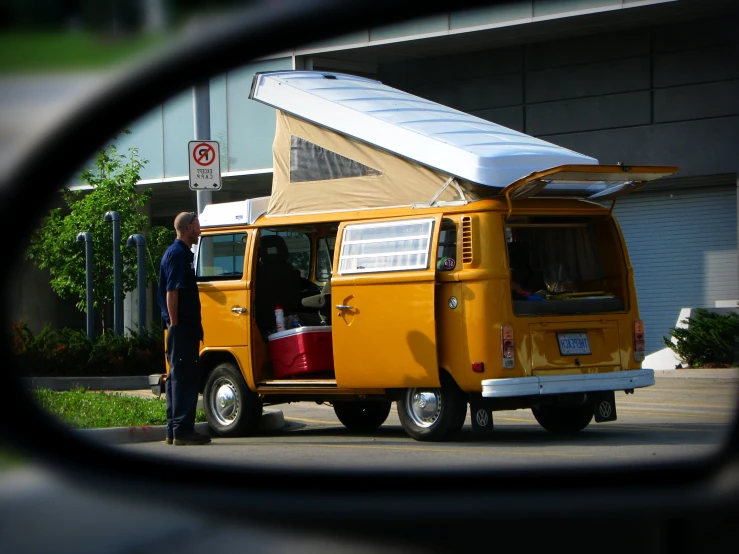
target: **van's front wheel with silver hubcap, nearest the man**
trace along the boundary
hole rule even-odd
[[[262,418],[262,401],[246,384],[241,371],[223,363],[208,375],[203,393],[208,425],[221,437],[253,434]]]

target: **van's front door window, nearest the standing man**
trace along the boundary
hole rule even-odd
[[[209,235],[200,239],[195,276],[199,281],[241,279],[246,233]]]

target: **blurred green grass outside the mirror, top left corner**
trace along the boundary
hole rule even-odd
[[[168,35],[103,38],[84,32],[0,33],[0,73],[107,69],[164,44]]]

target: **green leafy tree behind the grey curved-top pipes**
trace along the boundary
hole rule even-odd
[[[129,134],[128,131],[124,131]],[[136,287],[136,248],[126,246],[130,235],[146,238],[147,284],[158,278],[159,261],[174,240],[174,230],[152,227],[140,213],[151,199],[151,190],[136,186],[148,160],[129,148],[128,156],[118,153],[114,144],[100,150],[92,169],[82,172],[80,181],[92,190],[62,192],[64,207],[52,209],[34,232],[27,258],[51,273],[51,288],[62,298],[78,298],[77,308],[86,309],[85,249],[77,235],[89,232],[93,241],[94,307],[105,329],[105,316],[113,306],[113,225],[104,222],[106,212],[120,215],[121,282],[123,293]]]

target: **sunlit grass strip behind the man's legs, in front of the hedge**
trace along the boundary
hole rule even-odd
[[[39,405],[49,413],[77,429],[100,427],[138,427],[165,425],[167,412],[164,398],[141,398],[119,393],[86,391],[51,391],[37,389],[33,392]],[[196,422],[205,421],[205,412],[198,410]]]

